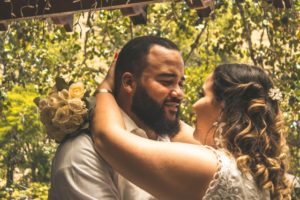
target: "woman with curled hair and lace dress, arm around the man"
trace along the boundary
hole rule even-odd
[[[112,89],[111,82],[100,88]],[[98,94],[97,151],[159,199],[290,199],[279,94],[268,75],[245,64],[219,65],[203,92],[193,105],[194,137],[203,145],[129,134],[113,95]]]

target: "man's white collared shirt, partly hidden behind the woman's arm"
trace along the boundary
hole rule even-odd
[[[122,112],[126,129],[148,138]],[[158,137],[170,141],[168,137]],[[80,134],[60,144],[52,162],[49,200],[153,200],[155,199],[114,171],[94,150],[88,134]]]

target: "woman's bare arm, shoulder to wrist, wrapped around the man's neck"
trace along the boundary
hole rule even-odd
[[[114,169],[161,199],[201,199],[217,171],[211,151],[135,136],[124,130],[112,94],[99,93],[96,99],[95,148]]]

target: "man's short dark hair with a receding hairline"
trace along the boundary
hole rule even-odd
[[[119,53],[115,71],[115,94],[119,93],[121,78],[125,72],[139,78],[148,66],[147,55],[153,45],[179,51],[176,44],[166,38],[157,36],[141,36],[130,40]]]

